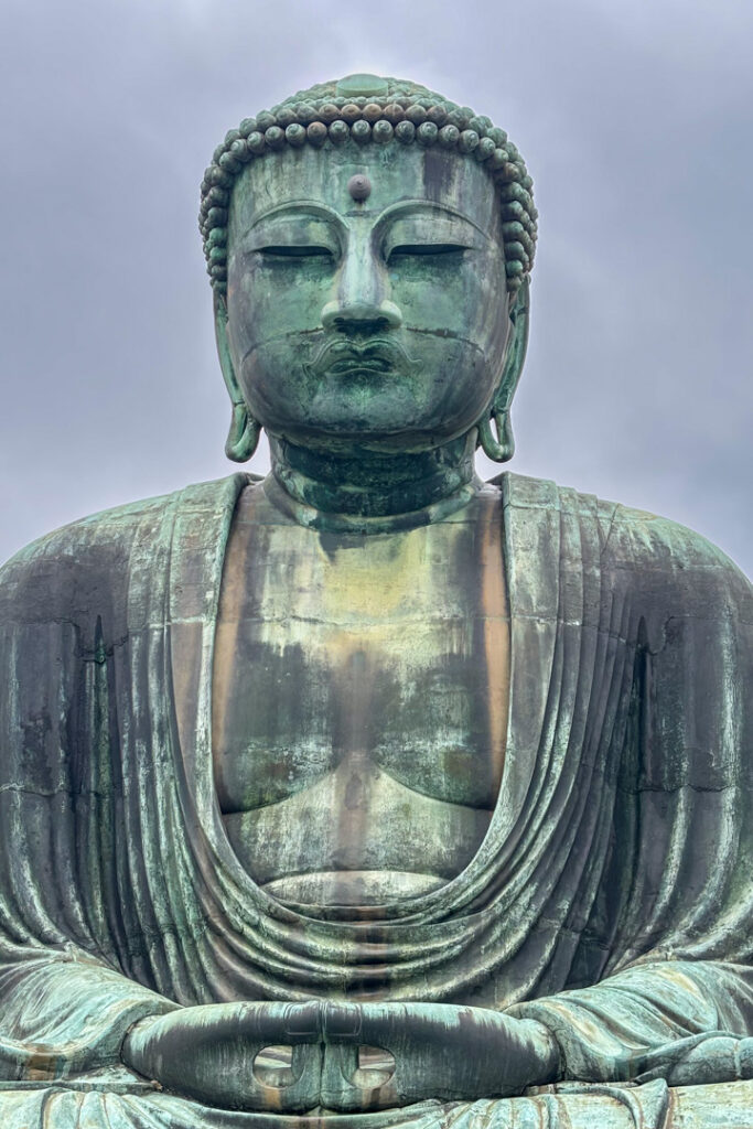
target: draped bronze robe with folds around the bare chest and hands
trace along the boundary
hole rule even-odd
[[[545,1093],[341,1124],[753,1123],[751,587],[671,522],[497,481],[511,624],[497,805],[462,874],[379,920],[287,908],[222,828],[212,648],[248,475],[95,515],[8,562],[5,1129],[303,1124],[157,1093],[119,1053],[142,1016],[310,997],[509,1008],[561,1049],[567,1080]]]

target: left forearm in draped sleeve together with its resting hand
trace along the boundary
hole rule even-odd
[[[178,1007],[80,954],[41,954],[0,971],[0,1078],[7,1080],[52,1082],[125,1066],[211,1105],[304,1111],[319,1104],[315,1003]],[[282,1088],[254,1070],[256,1054],[279,1044],[294,1047],[295,1083]]]

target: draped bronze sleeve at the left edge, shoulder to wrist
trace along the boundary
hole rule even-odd
[[[117,794],[97,694],[96,624],[50,546],[0,572],[0,1078],[40,1080],[120,1062],[139,1018],[176,1007],[123,974],[103,912],[107,874],[81,828]],[[64,598],[62,598],[64,597]],[[76,819],[86,808],[91,819]],[[111,828],[112,831],[112,828]],[[113,832],[114,833],[114,832]]]

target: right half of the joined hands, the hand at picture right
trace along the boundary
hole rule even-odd
[[[535,1019],[453,1004],[325,1004],[322,1105],[339,1112],[423,1099],[505,1097],[553,1082],[559,1047]],[[359,1047],[394,1058],[394,1073],[369,1084]],[[376,1082],[377,1079],[375,1079]]]

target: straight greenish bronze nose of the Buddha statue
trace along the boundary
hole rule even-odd
[[[322,325],[340,333],[374,333],[403,324],[400,307],[385,294],[386,272],[367,226],[351,230],[338,271],[336,295],[322,308]]]

